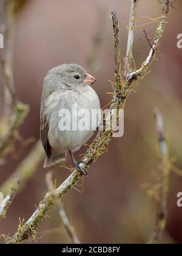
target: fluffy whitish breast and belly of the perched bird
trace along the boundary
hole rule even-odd
[[[49,118],[50,146],[58,154],[66,150],[77,151],[99,125],[100,118],[93,118],[93,113],[100,110],[97,94],[87,86],[84,91],[67,90],[56,98],[50,96],[49,101],[53,101]]]

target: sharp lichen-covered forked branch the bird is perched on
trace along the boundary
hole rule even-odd
[[[157,36],[155,38],[155,43],[153,44],[153,49],[151,50],[149,56],[144,62],[141,68],[141,71],[135,71],[135,73],[131,73],[127,80],[121,79],[121,56],[120,56],[120,28],[118,26],[118,20],[116,18],[116,13],[112,13],[111,18],[113,20],[113,30],[114,30],[114,48],[115,48],[115,82],[116,89],[113,96],[112,104],[110,106],[110,113],[112,113],[113,109],[119,110],[120,108],[124,108],[126,104],[126,99],[129,97],[130,91],[133,88],[133,80],[139,80],[141,75],[146,74],[146,69],[149,63],[152,62],[153,55],[155,54],[156,48],[158,46],[159,40],[161,38],[161,34],[164,31],[164,24],[166,22],[167,13],[169,11],[169,0],[165,0],[163,4],[163,15],[161,16],[160,24],[157,28]],[[147,65],[148,63],[148,65]],[[110,114],[109,113],[109,114]],[[110,118],[110,115],[106,115],[106,119]],[[90,165],[97,160],[99,155],[106,152],[106,148],[112,138],[112,129],[107,129],[99,133],[99,136],[93,140],[92,144],[90,144],[89,148],[86,151],[86,154],[83,156],[83,168],[87,171],[90,168]],[[82,177],[82,175],[73,169],[72,174],[62,182],[62,184],[55,190],[56,195],[58,195],[59,199],[61,199],[64,194],[67,193],[70,189],[72,189],[78,180]],[[47,212],[50,208],[53,207],[53,199],[50,193],[47,193],[44,199],[39,203],[38,208],[35,210],[32,216],[30,216],[29,220],[25,222],[22,227],[18,228],[18,231],[15,235],[10,238],[7,243],[16,244],[22,243],[25,240],[29,240],[32,236],[34,237],[36,234],[36,228],[39,226],[41,221],[47,215]]]

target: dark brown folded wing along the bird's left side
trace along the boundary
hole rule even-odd
[[[45,153],[48,158],[51,156],[51,147],[48,140],[49,121],[47,115],[44,113],[44,107],[41,107],[41,140]]]

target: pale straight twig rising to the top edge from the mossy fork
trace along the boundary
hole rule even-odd
[[[138,5],[138,0],[132,0],[128,39],[127,39],[127,50],[126,50],[126,58],[125,58],[126,66],[125,66],[125,70],[124,70],[124,79],[126,79],[127,75],[132,71],[133,40],[134,40],[135,18],[136,18],[137,5]]]

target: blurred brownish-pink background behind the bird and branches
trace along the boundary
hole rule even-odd
[[[160,16],[161,4],[157,0],[139,2],[138,18]],[[112,91],[108,79],[114,80],[110,12],[115,11],[118,15],[122,58],[126,52],[130,14],[130,1],[126,0],[27,0],[19,3],[15,17],[13,74],[18,99],[30,106],[30,113],[19,130],[21,142],[16,142],[14,150],[8,154],[7,163],[0,166],[1,184],[39,139],[42,80],[50,68],[61,63],[78,63],[96,77],[93,88],[102,107],[112,99],[106,94]],[[182,33],[182,2],[175,2],[174,7],[170,7],[169,23],[161,39],[157,61],[127,101],[124,136],[113,138],[109,151],[93,163],[83,185],[79,182],[79,191],[71,190],[62,199],[81,243],[146,243],[156,213],[156,202],[143,189],[144,184],[155,182],[157,171],[155,106],[163,114],[170,155],[175,165],[182,169],[182,49],[177,48],[177,35]],[[140,26],[146,23],[149,21],[141,18],[135,30],[133,56],[137,68],[150,50],[147,41],[142,39],[143,29],[153,38],[157,27],[157,23]],[[27,140],[29,143],[23,143]],[[83,147],[76,158],[85,151]],[[70,158],[66,165],[72,165]],[[59,166],[52,170],[57,185],[70,174]],[[1,220],[1,233],[13,235],[19,218],[27,220],[33,213],[47,191],[46,172],[42,163],[36,168],[24,190],[15,197],[7,218]],[[171,173],[163,243],[182,243],[182,208],[177,207],[180,191],[182,177]],[[39,226],[37,237],[36,243],[70,243],[55,209]]]

